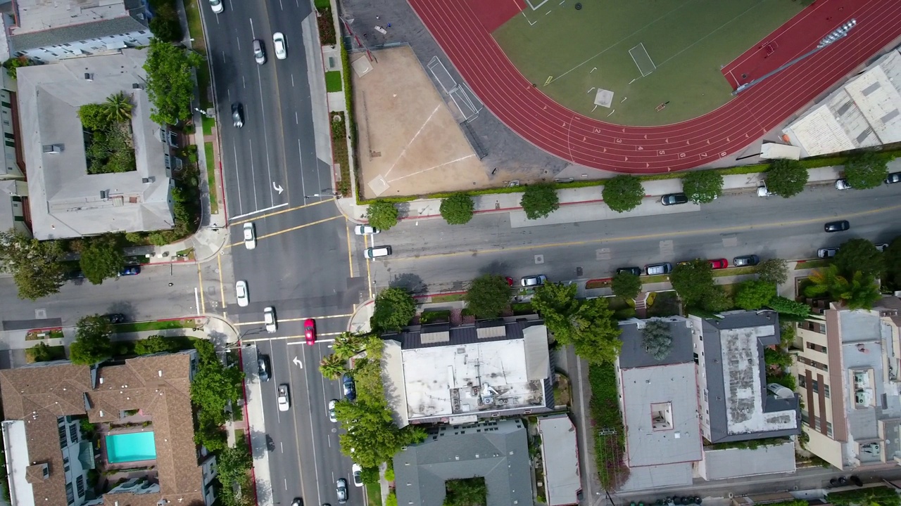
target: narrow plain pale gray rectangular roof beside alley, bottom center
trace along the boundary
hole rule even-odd
[[[578,503],[582,489],[578,472],[576,426],[567,413],[540,417],[538,434],[542,437],[544,492],[549,506]]]

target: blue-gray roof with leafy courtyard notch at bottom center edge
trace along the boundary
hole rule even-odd
[[[444,425],[394,457],[398,506],[441,506],[444,483],[483,476],[486,506],[532,504],[529,447],[520,420]]]

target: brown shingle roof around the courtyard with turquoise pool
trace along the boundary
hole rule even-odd
[[[46,480],[32,483],[35,502],[66,503],[65,476],[54,472],[62,470],[57,417],[87,414],[92,422],[109,422],[119,420],[122,411],[140,409],[153,420],[160,492],[107,494],[114,495],[114,500],[106,497],[104,503],[143,506],[165,499],[188,506],[203,504],[203,471],[197,465],[191,413],[190,360],[188,353],[175,353],[100,366],[96,388],[91,385],[89,366],[49,364],[0,370],[5,416],[26,423],[29,464],[50,467]]]

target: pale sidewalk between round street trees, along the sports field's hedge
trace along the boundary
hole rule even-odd
[[[820,167],[809,171],[808,185],[832,184],[842,173],[842,167]],[[741,174],[723,177],[724,194],[740,194],[756,192],[760,181],[764,179],[763,173]],[[532,220],[520,223],[519,226],[544,225],[560,222],[606,220],[612,218],[631,218],[634,216],[648,216],[653,214],[668,214],[672,212],[698,211],[697,204],[662,206],[657,203],[657,198],[664,194],[674,194],[682,191],[682,180],[679,178],[645,181],[645,200],[639,207],[629,212],[614,212],[604,204],[602,192],[603,186],[586,186],[582,188],[566,188],[558,190],[560,196],[560,210],[551,213],[551,216],[543,220]],[[513,194],[489,194],[472,197],[475,203],[475,212],[510,212],[511,221],[523,221],[524,212],[519,205],[521,193]],[[781,197],[770,197],[781,198]],[[336,201],[338,209],[344,216],[356,223],[366,223],[368,206],[358,205],[354,199],[343,198]],[[401,208],[402,220],[428,220],[441,219],[441,199],[420,199],[407,203],[397,204]],[[514,220],[522,214],[522,220]],[[514,225],[515,226],[515,225]]]

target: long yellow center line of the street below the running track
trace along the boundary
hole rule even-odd
[[[571,246],[587,246],[590,244],[601,244],[601,243],[606,243],[606,242],[623,242],[626,240],[665,239],[665,238],[691,236],[691,235],[698,235],[698,234],[738,232],[738,231],[744,231],[744,230],[751,230],[754,228],[774,229],[774,228],[778,228],[778,227],[791,227],[791,226],[796,226],[796,225],[809,225],[811,223],[823,223],[824,220],[827,220],[827,219],[831,219],[833,221],[847,220],[849,218],[860,218],[861,216],[867,216],[869,214],[878,214],[879,212],[889,212],[889,211],[898,211],[898,210],[901,210],[901,205],[893,205],[891,207],[883,207],[880,209],[873,209],[870,211],[854,212],[851,214],[837,216],[834,219],[832,219],[832,218],[810,218],[810,219],[806,219],[806,220],[781,221],[778,223],[763,223],[763,224],[756,224],[756,225],[736,225],[734,227],[724,227],[724,228],[720,228],[720,229],[676,230],[676,231],[633,235],[633,236],[625,236],[625,237],[615,237],[615,238],[605,238],[605,239],[574,240],[574,241],[570,241],[570,242],[551,242],[548,244],[530,244],[527,246],[511,246],[511,247],[505,247],[505,248],[490,248],[490,249],[478,249],[478,250],[470,249],[470,250],[466,250],[466,251],[452,251],[450,253],[434,253],[432,255],[419,255],[416,257],[408,257],[408,258],[403,258],[403,259],[405,259],[405,260],[423,260],[423,259],[432,259],[432,258],[460,257],[463,255],[469,257],[469,256],[472,256],[473,253],[478,253],[479,255],[485,255],[487,253],[528,251],[528,250],[537,249],[537,248],[567,248],[567,247],[571,247]],[[367,274],[369,274],[368,267],[369,267],[369,264],[367,264]],[[372,297],[371,287],[369,289],[369,297],[370,298]]]

